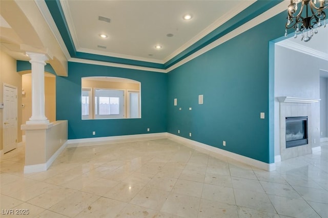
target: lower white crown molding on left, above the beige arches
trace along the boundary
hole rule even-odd
[[[52,34],[55,36],[55,39],[57,40],[59,47],[61,49],[61,51],[63,51],[66,59],[71,58],[71,55],[69,54],[65,42],[63,40],[63,38],[61,38],[61,35],[59,33],[59,30],[57,29],[57,26],[55,24],[55,21],[53,20],[50,11],[47,7],[47,4],[44,0],[34,0],[36,6],[38,7],[40,13],[42,14],[42,16],[45,18],[46,23],[48,24],[50,31],[52,32]]]

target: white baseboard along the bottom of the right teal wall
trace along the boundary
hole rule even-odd
[[[223,149],[220,149],[220,148],[217,148],[217,147],[213,147],[211,145],[203,144],[203,143],[193,141],[193,140],[190,140],[190,139],[187,139],[187,138],[176,136],[176,135],[170,134],[170,133],[168,133],[168,138],[173,139],[173,140],[177,140],[177,141],[180,141],[180,142],[189,143],[191,145],[194,145],[194,146],[197,146],[197,147],[200,147],[200,148],[215,152],[219,155],[226,156],[228,158],[237,160],[239,162],[242,162],[242,163],[245,163],[245,164],[260,168],[260,169],[264,169],[264,170],[267,170],[267,171],[276,170],[275,163],[272,163],[272,164],[264,163],[262,161],[258,161],[258,160],[252,159],[252,158],[248,158],[248,157],[245,157],[245,156],[242,156],[242,155],[238,155],[238,154],[235,154],[235,153],[227,151],[227,150],[223,150]]]

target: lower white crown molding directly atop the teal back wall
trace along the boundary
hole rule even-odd
[[[108,66],[108,67],[114,67],[114,68],[125,68],[125,69],[133,69],[133,70],[140,70],[140,71],[151,71],[151,72],[157,72],[157,73],[168,73],[167,70],[162,70],[162,69],[139,67],[139,66],[134,66],[134,65],[129,65],[129,64],[111,63],[111,62],[104,62],[104,61],[98,61],[98,60],[70,58],[68,61],[76,62],[76,63],[95,64],[95,65]]]

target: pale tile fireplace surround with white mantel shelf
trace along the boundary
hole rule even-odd
[[[287,160],[312,153],[312,103],[320,99],[282,96],[277,97],[280,102],[280,156]],[[286,117],[308,117],[309,144],[286,148]]]

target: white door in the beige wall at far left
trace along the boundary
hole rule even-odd
[[[4,153],[17,145],[17,88],[4,84]]]

